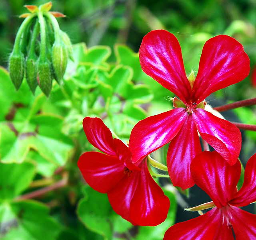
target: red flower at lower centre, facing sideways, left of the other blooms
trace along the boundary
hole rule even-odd
[[[114,211],[134,225],[156,226],[166,219],[170,201],[151,177],[146,159],[137,165],[132,153],[100,118],[83,121],[88,141],[103,153],[83,153],[78,167],[96,191],[107,193]]]

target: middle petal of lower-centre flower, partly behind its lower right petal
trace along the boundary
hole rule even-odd
[[[136,224],[132,222],[130,218],[130,203],[136,191],[139,179],[139,171],[126,174],[125,177],[116,184],[116,187],[108,192],[108,200],[113,210],[134,225]]]

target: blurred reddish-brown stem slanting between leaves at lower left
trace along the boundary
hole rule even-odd
[[[16,200],[25,200],[25,199],[40,197],[41,195],[44,195],[45,193],[48,193],[48,192],[53,191],[55,189],[66,186],[67,183],[68,183],[68,175],[65,174],[64,177],[60,181],[58,181],[58,182],[56,182],[56,183],[54,183],[50,186],[38,189],[34,192],[26,193],[22,196],[19,196],[19,197],[16,198]]]

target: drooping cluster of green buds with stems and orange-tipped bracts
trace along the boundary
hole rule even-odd
[[[68,58],[72,59],[71,41],[56,20],[65,15],[49,12],[52,2],[25,7],[30,13],[20,16],[25,19],[9,57],[10,78],[18,90],[25,75],[33,93],[39,86],[49,96],[53,79],[61,83]]]

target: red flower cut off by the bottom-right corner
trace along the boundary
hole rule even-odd
[[[192,177],[212,199],[212,210],[194,219],[171,226],[164,240],[236,240],[256,239],[256,215],[239,207],[256,201],[256,154],[245,168],[244,184],[237,191],[241,164],[229,165],[216,152],[204,151],[191,163]],[[210,203],[208,203],[209,205]]]

